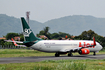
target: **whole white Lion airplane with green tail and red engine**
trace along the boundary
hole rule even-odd
[[[55,57],[59,57],[61,54],[68,53],[68,56],[73,56],[73,52],[78,52],[80,55],[86,55],[90,52],[93,52],[93,55],[96,55],[96,52],[102,49],[102,46],[95,41],[90,40],[42,40],[36,37],[33,31],[30,29],[24,17],[21,17],[23,35],[25,41],[18,42],[23,43],[27,47],[31,47],[35,50],[42,52],[55,53]]]

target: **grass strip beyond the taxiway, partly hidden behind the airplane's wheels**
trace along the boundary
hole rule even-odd
[[[92,55],[90,53],[89,55]],[[100,51],[96,54],[105,54],[105,51]],[[30,57],[30,56],[54,56],[55,53],[45,53],[36,50],[28,49],[0,49],[0,58],[2,57]],[[79,55],[78,53],[73,53],[73,55]]]

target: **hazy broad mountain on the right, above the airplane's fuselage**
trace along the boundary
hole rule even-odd
[[[80,35],[83,31],[93,30],[105,36],[105,18],[93,16],[73,15],[53,19],[44,23],[50,27],[50,32],[65,32],[71,35]]]

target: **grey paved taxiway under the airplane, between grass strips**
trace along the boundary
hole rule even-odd
[[[73,57],[68,56],[39,56],[39,57],[11,57],[11,58],[0,58],[0,64],[7,63],[26,63],[26,62],[39,62],[43,60],[61,60],[61,59],[105,59],[105,55],[74,55]]]

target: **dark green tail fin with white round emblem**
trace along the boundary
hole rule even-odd
[[[35,40],[42,40],[40,38],[37,38],[33,34],[32,30],[30,29],[29,25],[25,21],[24,17],[21,17],[21,22],[22,22],[22,26],[23,26],[23,34],[24,34],[25,41],[31,42],[31,41],[35,41]]]

